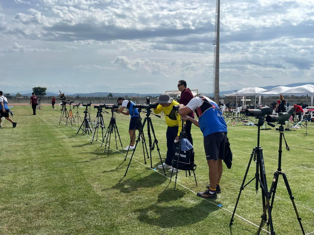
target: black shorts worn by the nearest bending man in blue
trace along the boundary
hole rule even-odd
[[[206,160],[224,160],[227,136],[224,132],[211,133],[204,137]]]

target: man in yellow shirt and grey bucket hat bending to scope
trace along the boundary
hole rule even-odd
[[[179,140],[179,135],[181,132],[182,124],[180,115],[176,115],[176,111],[172,110],[172,106],[178,105],[179,103],[174,101],[168,94],[161,94],[156,103],[159,103],[157,108],[154,109],[154,113],[158,114],[161,111],[165,113],[165,121],[168,126],[166,132],[167,138],[167,157],[163,163],[164,168],[170,168],[169,172],[172,170],[172,158],[175,149],[175,140]],[[158,166],[159,169],[162,169],[162,165]],[[173,172],[176,172],[176,168],[173,169]],[[179,171],[179,170],[178,170]]]

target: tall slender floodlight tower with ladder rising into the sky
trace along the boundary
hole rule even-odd
[[[214,72],[213,72],[213,94],[214,101],[219,103],[219,24],[220,24],[220,0],[216,0],[215,17],[215,38],[213,40],[214,48]]]

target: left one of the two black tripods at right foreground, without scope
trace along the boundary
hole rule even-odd
[[[234,217],[234,215],[236,213],[236,207],[238,206],[238,202],[240,200],[240,196],[241,196],[242,190],[244,190],[244,188],[255,179],[255,190],[256,190],[256,193],[257,193],[257,190],[258,190],[258,184],[262,188],[263,211],[265,212],[265,217],[263,217],[263,220],[264,221],[267,220],[266,210],[268,210],[268,219],[269,219],[268,220],[268,224],[270,225],[270,229],[273,230],[273,220],[272,220],[272,217],[271,217],[271,208],[270,208],[269,204],[266,205],[266,196],[268,195],[268,188],[267,188],[265,165],[264,165],[264,158],[263,158],[263,149],[259,146],[260,128],[261,128],[261,126],[263,126],[263,124],[265,122],[264,121],[264,115],[263,116],[259,116],[257,118],[258,118],[258,123],[256,124],[257,127],[258,127],[258,129],[257,129],[257,146],[253,149],[253,151],[251,153],[249,164],[247,165],[247,168],[246,168],[246,171],[245,171],[245,175],[244,175],[244,178],[243,178],[243,181],[242,181],[242,185],[240,187],[240,192],[239,192],[239,195],[238,195],[238,199],[236,201],[236,206],[235,206],[235,209],[233,210],[229,226],[231,226],[233,221],[234,221],[233,217]],[[250,180],[248,183],[245,184],[246,176],[247,176],[247,173],[249,171],[249,168],[250,168],[250,165],[251,165],[253,157],[254,157],[254,161],[256,162],[255,176],[254,176],[254,178],[252,180]]]

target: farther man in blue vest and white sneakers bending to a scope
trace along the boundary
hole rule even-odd
[[[121,107],[119,109],[117,109],[117,112],[120,112],[124,115],[131,115],[131,120],[130,120],[130,125],[129,125],[129,134],[130,134],[130,140],[131,144],[130,144],[130,148],[129,146],[127,146],[124,150],[133,150],[134,149],[134,143],[135,143],[135,130],[138,130],[138,109],[137,108],[133,108],[133,105],[135,105],[134,102],[130,101],[130,100],[125,100],[123,97],[119,97],[117,100],[117,103],[119,103],[121,105]],[[123,111],[125,108],[127,108],[127,112]],[[134,135],[133,135],[134,134]],[[132,138],[133,137],[133,138]]]

